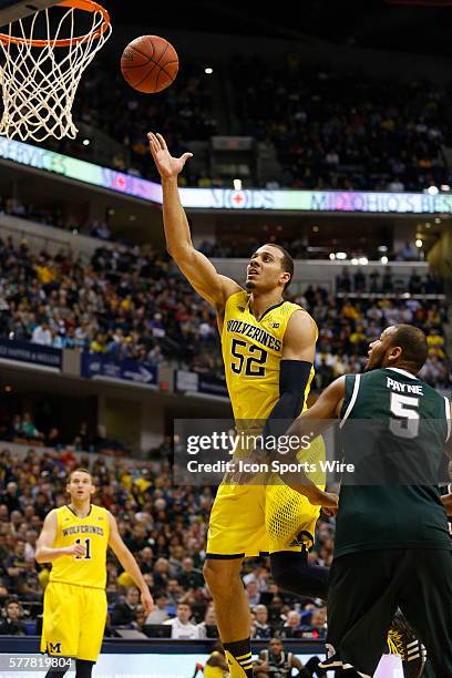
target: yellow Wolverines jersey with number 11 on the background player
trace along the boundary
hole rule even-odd
[[[86,517],[81,518],[69,507],[56,508],[56,537],[54,548],[82,544],[84,556],[68,555],[52,564],[50,582],[78,584],[90,588],[105,588],[106,548],[110,523],[106,508],[91,504]]]

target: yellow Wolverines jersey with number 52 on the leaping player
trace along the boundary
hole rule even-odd
[[[226,383],[238,420],[266,420],[279,400],[279,369],[287,323],[304,308],[281,301],[257,320],[249,308],[250,295],[232,295],[225,308],[222,350]],[[314,367],[305,390],[304,410],[314,378]]]

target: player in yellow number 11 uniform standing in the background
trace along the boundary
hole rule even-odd
[[[76,658],[76,678],[90,678],[105,628],[109,546],[140,588],[147,614],[153,599],[115,518],[91,503],[95,486],[90,472],[72,471],[66,491],[70,503],[47,515],[37,545],[38,563],[52,564],[44,593],[41,651]],[[47,678],[64,674],[61,668],[51,669]]]

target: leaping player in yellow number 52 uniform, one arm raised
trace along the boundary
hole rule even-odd
[[[247,289],[217,273],[192,243],[177,175],[192,156],[172,157],[162,135],[148,134],[163,187],[166,246],[193,288],[216,310],[228,391],[237,428],[265,421],[266,434],[306,407],[314,376],[317,327],[302,308],[284,300],[294,261],[281,247],[264,245],[247,269]],[[284,484],[222,484],[212,511],[204,575],[232,678],[253,676],[249,609],[240,581],[246,556],[270,553],[275,581],[300,594],[325,590],[326,568],[307,565],[319,506],[336,495],[311,490],[310,502]],[[316,504],[316,505],[312,505]],[[309,569],[309,572],[308,572]],[[308,582],[309,579],[309,582]],[[308,590],[309,588],[309,590]]]

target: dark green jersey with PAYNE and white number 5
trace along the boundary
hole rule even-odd
[[[346,377],[340,419],[345,461],[358,461],[359,484],[340,490],[335,556],[450,551],[435,484],[451,429],[449,400],[405,370],[378,369]]]

